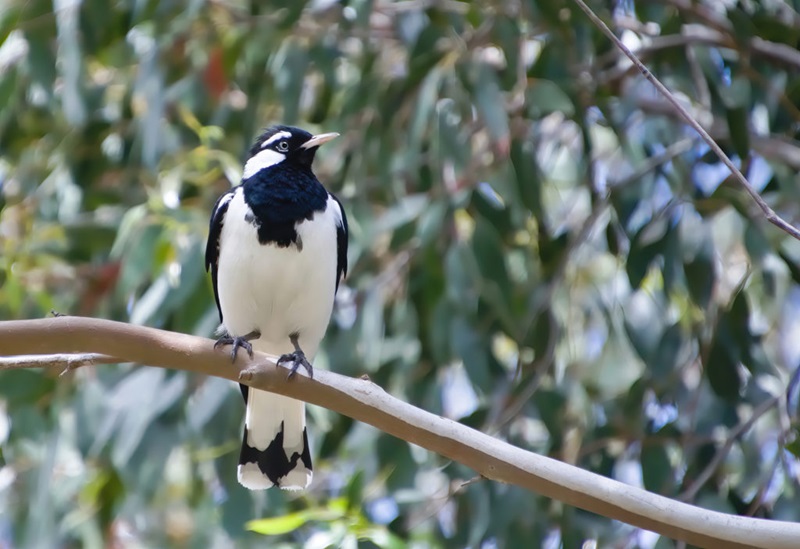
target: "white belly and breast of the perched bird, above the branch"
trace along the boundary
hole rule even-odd
[[[289,335],[312,360],[328,327],[336,292],[338,208],[328,199],[324,212],[297,227],[302,249],[258,242],[241,188],[231,199],[220,235],[217,291],[223,324],[233,336],[253,330],[259,351],[281,355],[294,350]],[[252,214],[251,214],[252,215]]]

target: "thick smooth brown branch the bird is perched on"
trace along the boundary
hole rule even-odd
[[[462,463],[487,479],[514,484],[546,497],[702,547],[793,549],[800,524],[709,511],[567,465],[430,414],[386,394],[366,379],[317,371],[314,379],[286,370],[259,354],[227,352],[208,339],[110,320],[60,317],[0,322],[6,356],[99,353],[120,360],[239,381],[324,406]],[[33,366],[29,357],[24,359]],[[21,362],[22,363],[22,362]],[[5,374],[13,375],[13,374]]]

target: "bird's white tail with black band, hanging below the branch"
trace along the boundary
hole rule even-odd
[[[244,389],[244,386],[243,386]],[[302,490],[311,482],[306,407],[300,400],[248,389],[239,483],[251,490]]]

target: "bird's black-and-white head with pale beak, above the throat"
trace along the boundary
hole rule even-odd
[[[250,148],[250,156],[244,165],[242,179],[249,179],[261,170],[281,163],[291,163],[310,169],[319,146],[338,135],[338,133],[312,135],[300,128],[272,126],[262,133]]]

